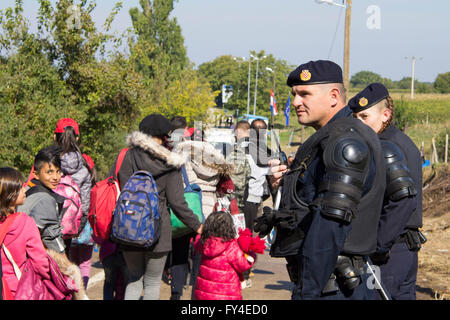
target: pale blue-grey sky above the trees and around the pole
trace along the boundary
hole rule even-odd
[[[115,2],[97,0],[99,28]],[[119,32],[131,27],[128,11],[139,6],[138,0],[123,3],[113,25]],[[13,4],[1,0],[0,9]],[[37,0],[24,0],[24,7],[35,23]],[[179,0],[173,16],[197,66],[224,54],[248,57],[250,50],[265,50],[293,65],[328,58],[343,65],[345,9],[337,6],[315,0]],[[433,82],[450,71],[448,0],[353,0],[351,23],[352,75],[369,70],[400,80],[411,76],[411,59],[405,57],[412,56],[423,58],[416,63],[420,81]]]

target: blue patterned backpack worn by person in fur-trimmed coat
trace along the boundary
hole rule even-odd
[[[152,247],[161,234],[158,202],[153,176],[147,171],[135,172],[117,200],[111,239],[129,246]]]

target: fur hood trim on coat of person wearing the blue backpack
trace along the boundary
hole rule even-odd
[[[185,164],[183,157],[156,143],[151,136],[145,133],[139,131],[131,133],[127,137],[127,144],[129,147],[140,147],[171,167],[181,168]]]

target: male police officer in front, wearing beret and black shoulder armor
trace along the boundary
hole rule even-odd
[[[289,168],[271,162],[279,210],[264,209],[255,230],[275,227],[272,257],[285,257],[293,299],[371,299],[368,256],[376,250],[385,189],[380,142],[352,117],[342,69],[331,61],[300,65],[288,78],[299,123],[316,133]]]

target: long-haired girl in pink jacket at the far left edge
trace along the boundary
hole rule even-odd
[[[22,270],[27,259],[31,259],[34,270],[43,278],[50,279],[47,253],[34,219],[15,210],[25,202],[26,195],[22,184],[22,175],[17,170],[0,168],[0,234],[4,235],[1,263],[3,280],[13,296],[19,280],[4,247],[11,253],[19,269]]]

